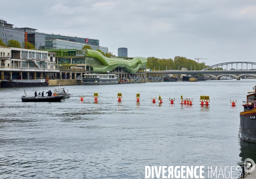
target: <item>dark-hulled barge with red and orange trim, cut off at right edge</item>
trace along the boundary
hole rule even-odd
[[[244,111],[240,113],[239,137],[241,140],[256,142],[256,86],[248,91]],[[245,102],[245,101],[243,101]]]

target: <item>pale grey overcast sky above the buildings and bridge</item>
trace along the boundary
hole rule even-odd
[[[208,65],[256,57],[256,0],[0,0],[0,18],[38,32],[99,39],[117,55],[208,58]]]

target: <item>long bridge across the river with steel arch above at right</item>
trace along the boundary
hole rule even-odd
[[[231,64],[232,66],[232,70],[208,70],[208,69],[212,69],[212,68],[216,68],[218,69],[218,67],[220,66],[224,66],[224,65],[228,65]],[[233,69],[233,64],[236,64],[236,69]],[[241,64],[241,69],[237,69],[238,64]],[[153,74],[163,74],[163,75],[167,75],[167,74],[187,74],[187,75],[204,75],[204,76],[211,76],[216,78],[217,80],[219,80],[221,78],[221,76],[226,76],[226,75],[230,75],[235,77],[237,80],[240,80],[240,77],[245,76],[245,75],[250,75],[250,76],[254,76],[256,77],[256,70],[252,70],[252,69],[243,69],[243,64],[247,64],[246,66],[248,66],[248,64],[252,65],[256,65],[256,63],[254,62],[227,62],[227,63],[222,63],[222,64],[216,64],[216,65],[212,65],[209,66],[207,68],[204,68],[202,70],[190,70],[190,71],[181,71],[181,70],[166,70],[166,71],[149,71],[147,72],[147,74],[153,75]],[[192,67],[191,67],[192,69]]]

